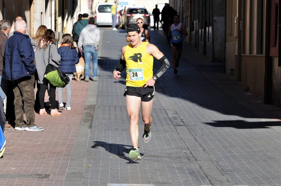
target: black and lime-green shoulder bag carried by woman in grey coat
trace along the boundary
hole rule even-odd
[[[44,73],[44,78],[47,79],[53,86],[63,88],[69,83],[70,79],[64,72],[62,72],[60,67],[50,64],[50,49],[51,44],[49,48],[48,65]]]

